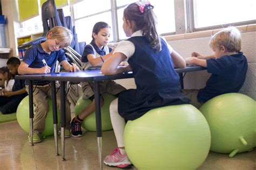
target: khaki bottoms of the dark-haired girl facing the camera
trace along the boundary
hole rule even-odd
[[[82,82],[82,90],[83,90],[83,99],[86,100],[94,95],[94,83]],[[117,84],[114,81],[104,81],[99,83],[99,91],[100,94],[109,93],[111,95],[116,95],[121,91],[126,90],[120,84]]]

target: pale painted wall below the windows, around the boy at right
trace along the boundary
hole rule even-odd
[[[245,31],[245,30],[243,30]],[[211,32],[212,33],[212,32]],[[181,56],[187,58],[191,56],[193,51],[199,52],[202,55],[213,54],[212,49],[209,47],[209,40],[211,33],[208,36],[200,38],[180,38],[184,35],[166,37],[167,42],[175,49]],[[200,34],[200,33],[195,33]],[[202,33],[201,33],[202,34]],[[248,61],[248,70],[244,86],[241,88],[240,93],[246,94],[256,100],[256,30],[245,31],[242,35],[242,49]],[[178,40],[172,40],[172,37],[179,37]],[[177,38],[175,38],[177,39]],[[205,86],[205,83],[210,77],[206,70],[186,73],[184,79],[185,89],[200,89]],[[118,80],[126,88],[136,88],[132,79]]]

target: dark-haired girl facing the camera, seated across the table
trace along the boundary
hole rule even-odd
[[[90,67],[101,67],[102,64],[113,54],[113,50],[106,45],[109,43],[111,28],[105,22],[98,22],[92,29],[92,41],[86,45],[82,54],[82,68],[88,69]],[[104,81],[99,83],[100,94],[109,93],[115,96],[125,90],[123,86],[114,81]],[[94,100],[94,84],[82,82],[83,99],[90,99],[92,103],[84,108],[79,115],[73,118],[71,122],[71,135],[73,137],[80,137],[83,135],[81,124],[83,120],[95,111]],[[103,97],[100,98],[100,104],[103,105]]]

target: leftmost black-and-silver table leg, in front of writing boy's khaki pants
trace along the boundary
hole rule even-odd
[[[29,80],[29,118],[30,118],[30,145],[33,146],[33,80]]]

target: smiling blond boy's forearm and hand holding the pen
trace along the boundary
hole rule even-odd
[[[27,63],[24,61],[21,62],[21,65],[18,67],[18,73],[21,75],[24,74],[46,74],[51,72],[51,67],[44,66],[42,68],[30,68]]]

